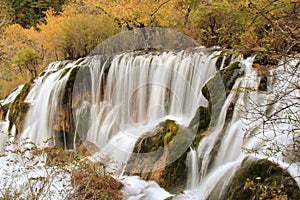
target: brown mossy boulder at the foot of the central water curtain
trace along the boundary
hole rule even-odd
[[[192,139],[191,131],[174,121],[161,122],[136,142],[125,171],[178,193],[186,185],[186,156]]]

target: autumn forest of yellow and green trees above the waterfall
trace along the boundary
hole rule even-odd
[[[50,62],[86,56],[134,28],[172,28],[206,47],[259,53],[262,65],[300,52],[300,0],[0,0],[0,7],[0,98]]]

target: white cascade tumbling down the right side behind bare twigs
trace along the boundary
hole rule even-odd
[[[297,60],[290,62],[290,66],[295,65],[297,62]],[[290,146],[293,139],[293,134],[291,133],[294,133],[295,135],[299,134],[291,131],[292,128],[298,126],[298,116],[292,116],[292,118],[295,118],[295,124],[291,123],[292,120],[290,118],[289,121],[284,120],[284,118],[281,118],[278,122],[275,121],[276,128],[274,129],[271,124],[269,128],[268,126],[262,126],[263,119],[261,114],[266,112],[266,109],[270,109],[267,108],[266,105],[268,102],[272,102],[272,100],[276,102],[275,107],[272,107],[274,112],[283,108],[284,105],[290,105],[291,109],[289,110],[289,113],[299,113],[299,100],[297,100],[299,91],[295,90],[294,85],[295,80],[298,80],[296,78],[299,77],[297,74],[298,71],[296,70],[297,73],[295,73],[295,71],[288,72],[286,69],[283,70],[282,68],[279,68],[279,71],[277,71],[279,75],[278,77],[275,77],[277,79],[276,82],[269,83],[268,85],[269,89],[272,88],[272,91],[269,91],[270,94],[267,96],[264,93],[257,92],[259,77],[257,72],[252,69],[251,59],[248,59],[243,63],[245,67],[245,77],[236,81],[232,92],[229,94],[223,105],[217,126],[208,133],[208,136],[201,140],[197,149],[197,154],[201,161],[201,168],[199,169],[200,180],[196,187],[186,190],[184,195],[179,195],[176,199],[207,199],[211,195],[213,195],[214,198],[221,198],[222,191],[225,188],[219,188],[217,194],[212,194],[212,192],[220,182],[222,182],[223,187],[226,187],[230,183],[230,178],[234,175],[237,167],[240,166],[246,156],[249,156],[241,150],[242,147],[248,149],[260,149],[259,154],[251,154],[251,156],[258,159],[268,158],[269,160],[278,163],[283,169],[287,169],[300,187],[299,162],[287,160],[285,157],[282,157],[281,154],[269,154],[268,156],[263,153],[267,153],[266,148],[268,147],[276,148],[274,144],[282,145],[282,147]],[[291,69],[293,68],[291,67]],[[245,88],[249,91],[236,92],[241,88]],[[287,93],[288,95],[279,101],[275,99],[278,94],[282,95],[282,92],[286,92],[288,88],[292,88],[290,89],[292,92]],[[226,130],[224,130],[224,120],[227,108],[229,103],[233,102],[234,98],[237,98],[237,100],[235,102],[236,106],[233,117]],[[225,114],[223,112],[225,112]],[[282,114],[286,115],[287,113]],[[277,117],[280,118],[280,116],[282,115],[280,114]],[[257,136],[245,136],[246,130],[248,134],[252,133]],[[285,134],[281,134],[283,131]],[[291,133],[287,134],[287,131],[291,131]],[[213,148],[218,148],[215,144],[220,137],[222,139],[220,147],[217,149],[218,154],[216,157],[212,157],[210,156],[210,153]],[[284,149],[282,149],[282,151],[284,151]],[[195,161],[193,160],[193,162]]]

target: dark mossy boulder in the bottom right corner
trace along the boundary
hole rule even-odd
[[[290,175],[268,160],[246,159],[235,174],[224,199],[300,199]]]

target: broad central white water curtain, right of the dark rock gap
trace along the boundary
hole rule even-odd
[[[86,140],[101,148],[98,156],[108,154],[124,166],[135,141],[162,120],[175,119],[188,125],[198,106],[207,105],[201,89],[216,72],[210,66],[214,66],[212,58],[218,53],[200,49],[190,54],[121,54],[111,62],[104,88],[105,67],[93,58],[89,65],[92,100],[82,103],[77,111],[87,104],[91,108]],[[77,124],[80,120],[75,116]]]

